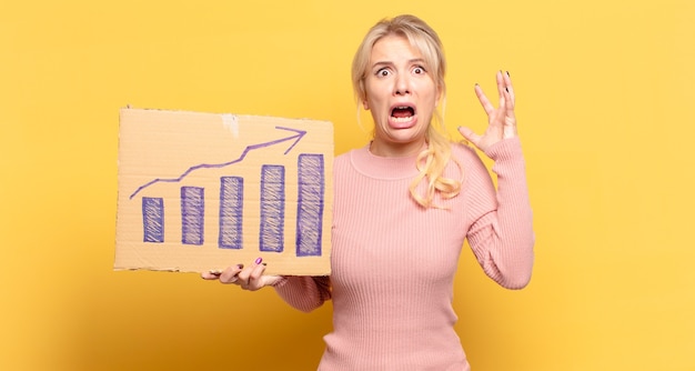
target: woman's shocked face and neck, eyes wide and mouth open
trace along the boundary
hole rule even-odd
[[[429,66],[405,37],[392,34],[376,41],[367,68],[363,103],[374,119],[372,152],[419,153],[440,98]]]

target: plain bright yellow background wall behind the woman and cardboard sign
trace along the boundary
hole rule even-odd
[[[330,305],[111,270],[118,110],[330,120],[344,152],[366,138],[353,51],[403,12],[445,43],[452,132],[485,127],[475,82],[517,92],[536,265],[514,292],[462,255],[473,369],[694,370],[689,0],[6,1],[0,369],[314,369]]]

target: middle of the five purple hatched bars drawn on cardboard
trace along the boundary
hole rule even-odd
[[[220,249],[242,248],[243,198],[243,178],[220,178]]]

